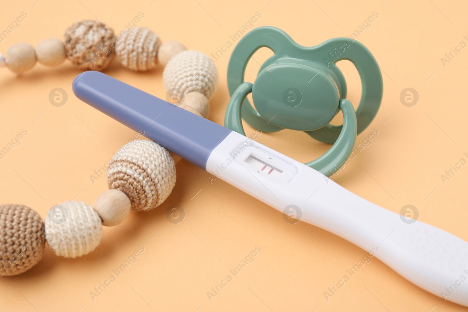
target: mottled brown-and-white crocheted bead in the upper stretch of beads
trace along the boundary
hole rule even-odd
[[[114,57],[114,31],[98,21],[79,21],[65,30],[65,54],[82,69],[101,71]]]

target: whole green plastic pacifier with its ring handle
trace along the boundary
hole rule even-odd
[[[274,55],[260,67],[255,82],[244,82],[252,54],[262,47]],[[346,81],[335,65],[351,61],[358,70],[362,95],[358,109],[346,100]],[[227,67],[231,100],[224,126],[245,135],[241,118],[255,129],[275,132],[282,129],[305,131],[323,143],[333,144],[328,152],[307,166],[330,176],[350,156],[356,136],[377,114],[383,85],[379,65],[371,52],[350,38],[333,38],[314,47],[297,44],[283,30],[264,26],[253,29],[234,48]],[[255,109],[246,96],[252,93]],[[330,121],[339,110],[343,125]]]

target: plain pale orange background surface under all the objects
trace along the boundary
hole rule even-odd
[[[17,42],[36,45],[46,37],[62,38],[66,27],[80,19],[97,18],[117,32],[139,12],[145,17],[138,25],[154,30],[162,41],[178,40],[207,55],[256,12],[262,17],[255,27],[276,26],[299,44],[313,46],[350,35],[377,12],[379,17],[358,40],[381,67],[383,101],[357,144],[373,129],[379,134],[335,181],[395,212],[412,204],[419,210],[419,220],[468,240],[468,169],[462,167],[445,184],[440,177],[468,152],[468,48],[445,67],[440,61],[460,41],[468,43],[463,38],[468,35],[466,2],[270,1],[4,1],[0,31],[22,12],[28,17],[0,43],[0,52],[5,54]],[[226,74],[232,51],[216,62],[219,87],[209,119],[220,124],[229,101]],[[261,64],[269,55],[262,50],[254,58]],[[249,63],[247,80],[255,79],[257,62]],[[339,66],[347,78],[348,98],[356,104],[358,74],[350,64]],[[71,84],[80,70],[69,61],[57,68],[38,64],[33,71],[21,76],[6,68],[0,72],[0,148],[22,129],[28,131],[21,144],[0,160],[0,203],[22,203],[45,218],[52,205],[76,196],[92,204],[107,184],[105,177],[93,184],[90,174],[134,132],[73,95]],[[105,73],[164,97],[162,71],[159,66],[152,73],[135,73],[113,62]],[[55,87],[68,93],[63,107],[54,107],[48,100]],[[419,93],[414,107],[405,107],[399,100],[406,87]],[[254,131],[246,125],[246,132]],[[329,148],[294,131],[263,133],[257,141],[303,162]],[[223,181],[210,183],[210,177],[182,160],[177,165],[176,187],[166,202],[150,212],[132,212],[122,225],[105,227],[96,252],[65,259],[46,246],[37,266],[20,276],[0,279],[0,310],[467,310],[421,290],[375,258],[327,301],[324,291],[364,251],[312,225],[288,224],[277,210]],[[165,216],[172,204],[186,213],[177,225]],[[93,301],[90,291],[139,246],[145,251],[138,261]],[[262,251],[255,261],[210,301],[206,292],[256,246]]]

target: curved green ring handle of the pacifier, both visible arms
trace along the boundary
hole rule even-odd
[[[224,126],[245,136],[242,126],[241,110],[246,96],[252,92],[253,84],[244,82],[236,88],[227,105],[226,115],[224,116]],[[339,109],[343,112],[343,126],[336,142],[330,149],[317,158],[306,163],[307,166],[318,172],[331,176],[341,168],[348,157],[351,155],[357,136],[356,113],[350,101],[340,100]]]

